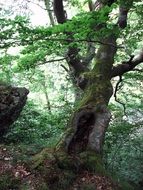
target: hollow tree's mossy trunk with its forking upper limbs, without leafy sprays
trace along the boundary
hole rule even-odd
[[[114,7],[112,4],[115,2],[119,6],[118,21],[109,28],[109,15]],[[55,0],[53,3],[57,22],[59,24],[66,23],[68,20],[63,1]],[[83,91],[83,97],[69,126],[71,127],[71,132],[66,138],[66,149],[70,154],[86,150],[102,153],[104,136],[111,117],[108,110],[108,103],[113,95],[111,79],[116,76],[121,77],[143,61],[143,52],[141,51],[138,56],[134,57],[131,55],[128,61],[114,66],[117,50],[122,48],[117,45],[117,40],[122,37],[121,29],[127,26],[127,16],[129,10],[133,7],[133,1],[88,1],[88,6],[89,15],[92,15],[93,19],[93,23],[89,26],[93,36],[90,32],[86,36],[85,41],[88,44],[87,54],[83,58],[79,55],[79,46],[76,47],[75,45],[73,47],[73,45],[69,45],[66,57],[76,85]],[[104,17],[103,19],[100,18],[101,15]],[[100,34],[102,30],[103,33]],[[93,44],[96,38],[94,32],[97,33],[97,39],[99,40],[97,41],[99,47],[96,53]],[[74,42],[74,40],[76,41],[74,30],[67,32],[65,29],[64,33],[68,44]],[[94,59],[94,64],[92,69],[90,69],[89,63],[92,59]]]

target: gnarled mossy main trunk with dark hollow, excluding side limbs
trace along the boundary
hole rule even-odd
[[[65,140],[69,154],[87,150],[102,153],[104,136],[111,116],[107,107],[113,94],[110,79],[116,53],[116,38],[110,36],[104,43],[107,45],[101,45],[99,48],[92,71],[83,74],[88,83],[73,114],[71,130]]]

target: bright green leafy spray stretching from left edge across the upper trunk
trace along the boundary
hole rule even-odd
[[[76,44],[78,46],[80,40],[83,40],[81,44],[84,44],[87,39],[99,40],[101,36],[105,37],[113,31],[113,25],[108,17],[111,11],[112,8],[105,6],[98,12],[78,14],[71,21],[54,27],[34,28],[30,26],[27,18],[20,16],[15,17],[14,20],[2,18],[2,32],[0,34],[3,42],[2,47],[26,45],[18,60],[19,70],[33,68],[37,64],[46,62],[47,55],[63,56],[69,45],[75,46]],[[101,27],[107,21],[109,21],[108,27]],[[76,43],[69,44],[66,41],[65,33],[70,32],[77,40]]]

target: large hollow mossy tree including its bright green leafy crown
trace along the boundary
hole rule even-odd
[[[51,11],[51,1],[44,2],[47,11]],[[79,2],[71,1],[81,8]],[[69,73],[77,91],[81,90],[81,100],[68,123],[64,140],[56,147],[56,151],[62,150],[67,157],[74,158],[85,153],[83,157],[86,160],[87,154],[95,157],[102,155],[111,118],[108,104],[113,92],[116,97],[118,89],[118,86],[113,89],[112,79],[119,76],[120,82],[125,73],[133,71],[143,62],[142,49],[133,55],[135,49],[142,45],[142,33],[138,27],[142,26],[142,3],[133,0],[88,0],[84,4],[85,11],[70,20],[64,3],[63,0],[53,1],[53,13],[49,13],[51,27],[31,29],[21,17],[14,21],[2,19],[5,33],[1,34],[0,46],[26,46],[21,52],[23,56],[18,59],[19,69],[56,61],[47,58],[51,55],[59,56],[59,61],[64,60],[62,67]],[[130,15],[128,21],[130,12],[134,15]],[[137,19],[135,27],[132,18]],[[132,33],[136,34],[136,38]],[[129,46],[128,54],[126,46]],[[126,60],[116,64],[118,57],[121,60],[120,54]],[[57,155],[55,158],[60,160],[59,167],[66,167],[62,165],[63,157]],[[75,162],[77,166],[78,159]]]

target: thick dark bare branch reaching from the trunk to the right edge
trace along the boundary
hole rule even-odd
[[[132,71],[137,65],[143,62],[143,50],[136,56],[131,57],[129,61],[124,61],[122,64],[112,68],[111,78],[121,76],[124,73]]]

